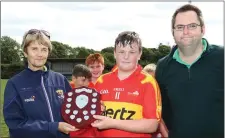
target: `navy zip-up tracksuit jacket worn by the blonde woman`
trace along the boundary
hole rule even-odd
[[[58,131],[67,79],[51,70],[24,69],[8,80],[3,114],[11,138],[67,138]]]

